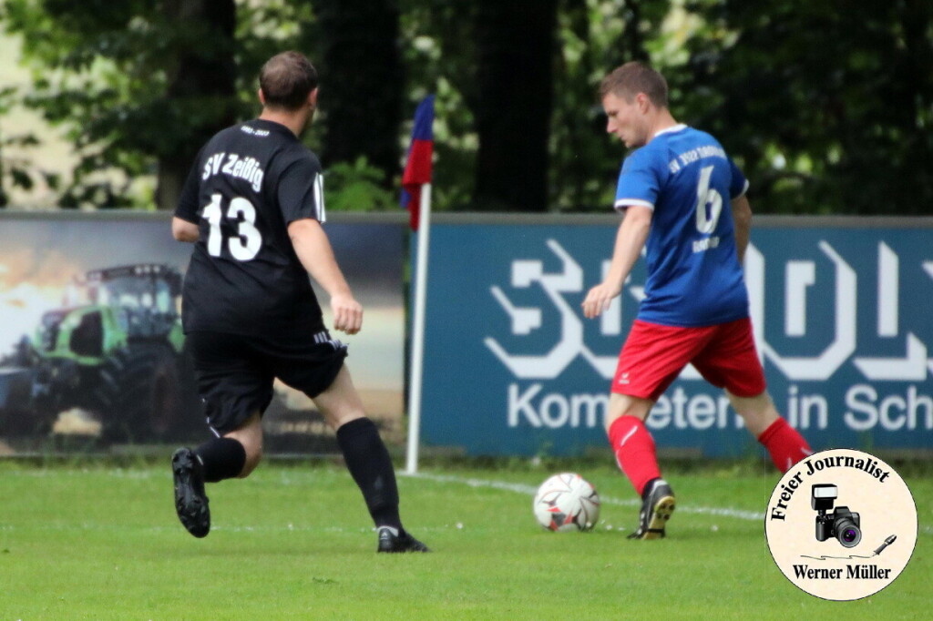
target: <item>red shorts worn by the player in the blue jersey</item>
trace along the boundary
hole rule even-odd
[[[612,392],[657,401],[688,363],[703,379],[739,397],[766,388],[752,324],[674,327],[635,320],[622,352]]]

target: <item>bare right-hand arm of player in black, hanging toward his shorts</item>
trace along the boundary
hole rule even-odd
[[[288,225],[288,236],[301,265],[330,296],[334,329],[347,334],[359,332],[363,325],[363,307],[355,300],[350,285],[343,278],[321,223],[311,218],[296,220]]]

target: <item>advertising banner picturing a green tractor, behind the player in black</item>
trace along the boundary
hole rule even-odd
[[[181,322],[191,246],[174,241],[170,217],[0,210],[0,455],[145,452],[211,435]],[[354,383],[396,443],[404,229],[327,229],[367,309],[365,333],[346,340]],[[311,398],[281,381],[263,425],[269,454],[337,449]]]

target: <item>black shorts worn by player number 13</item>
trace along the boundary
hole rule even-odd
[[[347,346],[327,330],[288,338],[191,332],[187,340],[204,413],[218,435],[265,412],[275,378],[312,398],[323,393],[347,355]]]

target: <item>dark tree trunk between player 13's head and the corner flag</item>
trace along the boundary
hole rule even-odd
[[[400,173],[404,75],[396,0],[314,0],[323,37],[319,104],[325,167],[365,156],[392,186]]]

